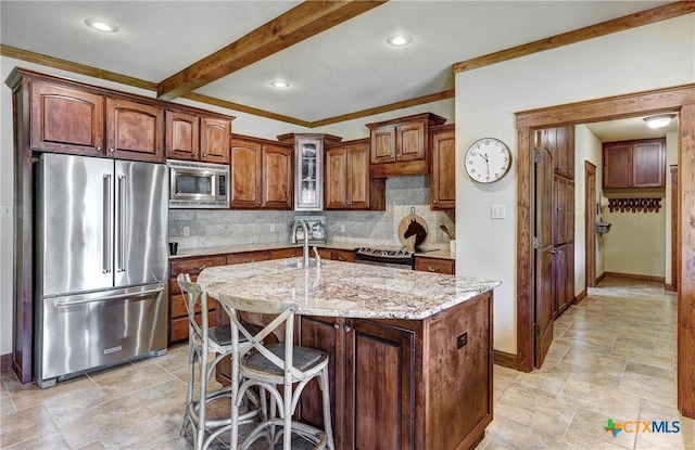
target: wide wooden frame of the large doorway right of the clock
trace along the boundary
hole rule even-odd
[[[695,380],[695,277],[683,277],[695,267],[695,83],[568,103],[516,113],[517,127],[517,369],[533,369],[533,132],[540,128],[679,113],[679,209],[678,246],[678,385]],[[687,167],[688,170],[683,168]],[[679,411],[695,417],[695,391],[678,389]]]

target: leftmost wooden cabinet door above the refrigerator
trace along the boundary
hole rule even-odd
[[[31,82],[33,150],[103,155],[104,98]]]

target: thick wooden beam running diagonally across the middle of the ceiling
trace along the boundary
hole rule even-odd
[[[311,38],[384,0],[305,1],[157,86],[157,97],[173,100]]]

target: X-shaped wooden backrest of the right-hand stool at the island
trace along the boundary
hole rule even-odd
[[[251,344],[248,347],[248,351],[255,350],[260,352],[268,361],[282,369],[286,374],[291,375],[295,380],[305,381],[308,378],[304,372],[292,367],[294,312],[299,307],[296,301],[255,300],[220,294],[219,304],[229,316],[233,347],[238,348],[233,339],[238,338],[239,334],[241,334],[242,336],[245,336],[247,339],[249,339],[249,344]],[[265,325],[263,330],[254,333],[239,320],[238,312],[255,312],[266,316],[275,316],[275,319]],[[285,345],[285,360],[278,358],[268,350],[264,343],[264,339],[268,337],[274,330],[282,326],[285,326],[285,342],[281,344]],[[243,355],[239,355],[239,357]],[[235,356],[232,356],[232,358],[233,357]]]

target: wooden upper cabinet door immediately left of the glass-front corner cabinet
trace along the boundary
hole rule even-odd
[[[294,172],[291,147],[264,144],[262,156],[261,206],[269,209],[292,209]]]

